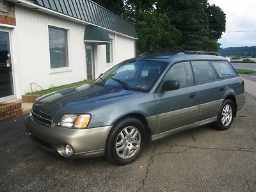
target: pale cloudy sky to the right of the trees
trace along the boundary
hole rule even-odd
[[[220,47],[256,46],[256,0],[209,0],[208,2],[220,6],[226,13],[226,32],[218,41]]]

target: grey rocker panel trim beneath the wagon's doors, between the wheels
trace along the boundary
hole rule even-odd
[[[164,137],[169,136],[171,134],[175,134],[176,132],[181,132],[181,131],[185,131],[185,130],[188,130],[188,129],[193,129],[195,127],[199,127],[199,126],[202,126],[202,125],[211,124],[212,122],[216,122],[217,119],[218,119],[218,117],[215,116],[215,117],[212,117],[212,118],[208,118],[206,120],[202,120],[200,122],[196,122],[195,124],[185,125],[183,127],[178,127],[176,129],[171,129],[169,131],[161,132],[159,134],[153,134],[151,136],[151,140],[152,141],[160,140],[161,138],[164,138]]]

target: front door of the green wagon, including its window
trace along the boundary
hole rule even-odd
[[[198,120],[197,90],[193,81],[190,63],[174,64],[167,72],[163,82],[170,80],[178,81],[180,88],[178,90],[155,93],[156,134],[193,124]]]

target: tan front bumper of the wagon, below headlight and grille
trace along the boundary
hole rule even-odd
[[[26,132],[37,145],[62,155],[65,145],[73,148],[72,158],[103,156],[106,140],[112,126],[90,129],[68,129],[36,122],[31,116],[25,118]],[[63,156],[63,155],[62,155]]]

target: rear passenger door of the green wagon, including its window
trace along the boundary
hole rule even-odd
[[[191,61],[198,90],[199,121],[214,118],[218,115],[225,86],[208,61]]]

